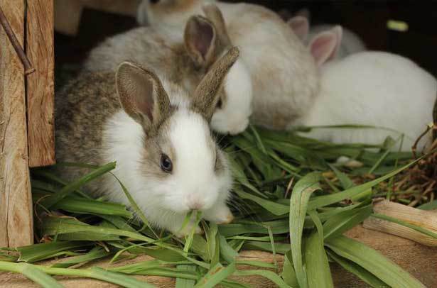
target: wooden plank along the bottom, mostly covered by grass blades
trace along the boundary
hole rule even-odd
[[[372,248],[378,250],[382,254],[389,257],[398,265],[409,271],[414,277],[417,277],[426,287],[437,287],[437,248],[430,248],[423,245],[419,245],[410,240],[391,236],[389,234],[380,233],[377,231],[367,230],[362,226],[357,226],[346,235],[355,240],[359,240]],[[134,260],[125,260],[118,262],[117,265],[128,265],[134,262],[141,262],[150,260],[149,256],[140,256]],[[273,263],[273,255],[271,253],[265,253],[260,251],[243,251],[240,253],[241,260],[257,260]],[[276,257],[278,264],[282,267],[284,257],[278,255]],[[54,261],[46,262],[46,265],[52,264]],[[108,267],[108,261],[93,262],[92,265],[99,265],[100,267]],[[90,266],[90,265],[88,265]],[[256,269],[255,267],[239,266],[239,269]],[[360,288],[368,287],[367,284],[361,282],[357,277],[346,272],[337,265],[331,266],[333,272],[333,279],[335,287],[341,288]],[[109,288],[116,287],[113,284],[107,284],[104,282],[90,280],[90,279],[72,279],[72,278],[58,278],[61,284],[65,287],[74,288]],[[166,277],[139,277],[139,279],[145,279],[147,282],[156,285],[157,287],[170,288],[174,287],[174,279]],[[244,277],[234,278],[237,281],[242,281],[250,285],[250,287],[274,287],[274,284],[269,280],[259,277]],[[30,281],[22,277],[21,275],[15,275],[12,273],[0,274],[0,288],[18,288],[18,287],[38,287],[32,284]]]

